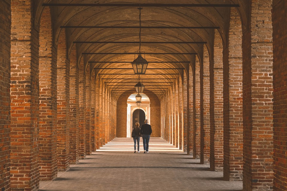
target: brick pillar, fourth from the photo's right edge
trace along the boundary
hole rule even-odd
[[[223,171],[223,61],[222,40],[215,30],[210,55],[210,170]]]

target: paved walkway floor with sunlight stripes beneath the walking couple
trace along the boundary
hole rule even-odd
[[[58,172],[54,181],[40,181],[41,191],[86,190],[242,190],[242,182],[223,181],[222,172],[208,170],[161,138],[150,139],[149,153],[133,153],[132,138],[116,138],[97,152]]]

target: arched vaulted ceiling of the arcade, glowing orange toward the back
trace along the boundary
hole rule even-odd
[[[141,51],[146,53],[146,60],[151,62],[146,75],[141,78],[149,78],[144,80],[145,85],[149,82],[153,82],[150,85],[162,85],[151,86],[150,90],[160,90],[169,85],[168,82],[174,82],[168,78],[180,82],[184,72],[188,73],[188,67],[193,67],[195,56],[201,60],[203,46],[206,45],[208,50],[213,46],[214,30],[219,31],[224,43],[230,8],[236,7],[244,20],[244,9],[248,6],[246,2],[161,0],[154,4],[149,0],[43,0],[38,2],[36,14],[40,15],[44,6],[50,6],[56,41],[65,28],[68,52],[76,46],[78,60],[84,59],[85,65],[91,67],[92,75],[116,78],[106,79],[106,82],[111,82],[106,84],[124,85],[123,82],[130,81],[134,85],[135,80],[126,78],[135,79],[137,76],[127,75],[132,74],[133,70],[126,68],[132,68],[130,62],[135,59],[133,53],[139,49],[139,44],[132,42],[139,41],[138,7],[141,4],[142,27],[145,27],[141,29]],[[119,41],[122,43],[115,43]],[[117,61],[127,63],[111,63]]]

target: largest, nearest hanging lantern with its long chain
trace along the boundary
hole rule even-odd
[[[138,50],[138,58],[135,58],[134,61],[132,61],[132,69],[134,70],[135,74],[145,74],[147,65],[149,64],[148,61],[146,61],[145,58],[141,56],[141,7],[138,8],[140,10],[140,33],[139,33],[139,39],[140,39],[140,47]]]

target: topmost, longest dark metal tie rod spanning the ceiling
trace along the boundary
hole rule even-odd
[[[239,7],[239,4],[161,4],[161,3],[43,3],[53,7]]]

